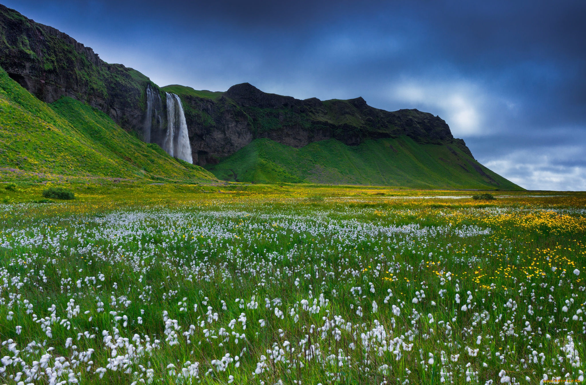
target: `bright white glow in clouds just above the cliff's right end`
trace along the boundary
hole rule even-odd
[[[481,133],[483,98],[466,84],[400,84],[391,92],[395,102],[413,105],[444,119],[456,137]]]

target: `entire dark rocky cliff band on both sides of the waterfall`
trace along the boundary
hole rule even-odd
[[[326,139],[355,146],[365,139],[406,135],[418,143],[456,146],[472,156],[442,119],[416,109],[384,111],[363,98],[299,100],[268,94],[248,83],[226,92],[180,85],[161,89],[138,71],[105,63],[65,33],[2,5],[0,37],[0,67],[31,94],[47,103],[63,96],[86,102],[152,143],[162,145],[168,136],[163,91],[178,94],[193,163],[202,166],[218,163],[260,138],[299,148]],[[151,109],[147,90],[154,101]]]

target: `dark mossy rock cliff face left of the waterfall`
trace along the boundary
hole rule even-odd
[[[0,66],[42,101],[69,96],[105,112],[125,130],[142,130],[145,88],[152,84],[148,77],[121,64],[105,63],[90,47],[4,5],[0,5]]]

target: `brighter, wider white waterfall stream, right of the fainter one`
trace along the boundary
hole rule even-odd
[[[163,150],[171,156],[193,163],[181,99],[178,95],[165,93],[167,96],[167,133],[163,140]]]

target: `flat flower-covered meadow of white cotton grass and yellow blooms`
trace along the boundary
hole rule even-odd
[[[6,384],[583,381],[586,194],[0,190]]]

